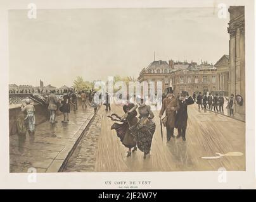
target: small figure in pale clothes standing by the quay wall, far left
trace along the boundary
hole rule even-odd
[[[31,100],[29,98],[26,99],[26,105],[22,105],[22,112],[27,112],[27,116],[25,117],[25,121],[29,126],[29,134],[33,136],[35,134],[35,107],[30,104]]]

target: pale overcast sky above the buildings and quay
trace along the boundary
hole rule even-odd
[[[10,83],[71,86],[77,76],[138,77],[153,61],[215,64],[229,54],[226,19],[214,8],[45,9],[9,13]]]

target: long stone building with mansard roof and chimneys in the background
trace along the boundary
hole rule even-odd
[[[162,81],[163,91],[172,86],[176,93],[183,90],[189,94],[217,92],[217,69],[208,62],[198,65],[186,61],[153,61],[141,71],[138,81],[155,81],[155,92],[157,81]]]

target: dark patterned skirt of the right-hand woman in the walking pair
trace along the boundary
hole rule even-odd
[[[146,124],[142,124],[143,122],[144,120],[141,119],[136,127],[131,128],[131,132],[136,136],[136,142],[139,150],[144,153],[149,153],[156,126],[153,121],[149,121]]]

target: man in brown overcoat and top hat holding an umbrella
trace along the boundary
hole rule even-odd
[[[170,141],[170,138],[175,138],[174,136],[174,127],[177,110],[179,109],[179,103],[177,98],[174,96],[174,91],[172,87],[167,88],[167,97],[163,99],[162,109],[160,110],[159,117],[163,116],[163,112],[167,117],[166,130],[167,130],[167,141]]]

